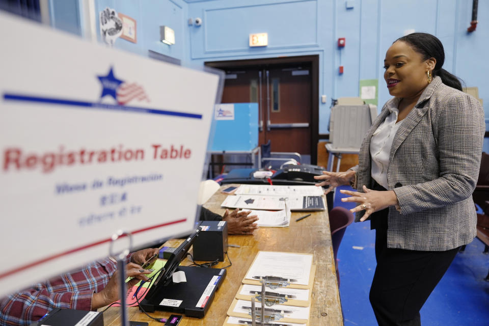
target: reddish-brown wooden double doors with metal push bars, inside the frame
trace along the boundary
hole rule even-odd
[[[219,68],[226,71],[222,103],[258,103],[260,144],[270,141],[271,151],[311,155],[316,144],[310,63]]]

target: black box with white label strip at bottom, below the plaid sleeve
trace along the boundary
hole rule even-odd
[[[31,326],[103,326],[102,313],[96,311],[55,308]]]

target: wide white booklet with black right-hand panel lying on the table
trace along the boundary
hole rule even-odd
[[[324,210],[322,196],[257,196],[236,195],[228,196],[221,204],[223,207],[243,209],[285,209],[285,201],[290,210]]]

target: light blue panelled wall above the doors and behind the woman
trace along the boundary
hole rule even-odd
[[[67,0],[65,6],[71,3],[76,1]],[[95,1],[97,17],[100,10],[110,7],[137,20],[138,43],[118,39],[115,46],[143,56],[151,49],[180,59],[182,65],[201,67],[205,61],[319,55],[319,96],[327,95],[327,103],[319,104],[319,133],[328,133],[331,99],[358,96],[360,79],[379,79],[380,110],[390,98],[382,68],[388,47],[405,30],[432,33],[445,46],[444,68],[467,86],[479,88],[489,119],[489,83],[483,80],[489,73],[485,60],[489,1],[479,2],[479,24],[471,34],[467,33],[472,12],[469,0],[348,3],[353,8],[346,8],[346,0]],[[56,18],[63,15],[61,7],[55,11]],[[69,17],[63,20],[73,20]],[[202,25],[188,25],[188,18],[196,17],[202,18]],[[165,24],[175,30],[175,45],[159,42],[159,26]],[[262,32],[268,33],[268,46],[250,48],[249,34]],[[343,49],[336,46],[339,37],[346,38]],[[342,75],[340,65],[344,66]]]

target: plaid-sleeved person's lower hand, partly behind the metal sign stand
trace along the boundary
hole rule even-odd
[[[126,265],[126,276],[132,279],[130,279],[129,282],[126,283],[127,288],[129,289],[133,287],[141,280],[149,280],[146,274],[151,274],[151,271],[148,269],[143,269],[138,264],[128,263]],[[93,294],[92,310],[110,305],[111,303],[119,299],[119,272],[116,270],[110,280],[108,280],[108,283],[103,288],[103,290]]]

